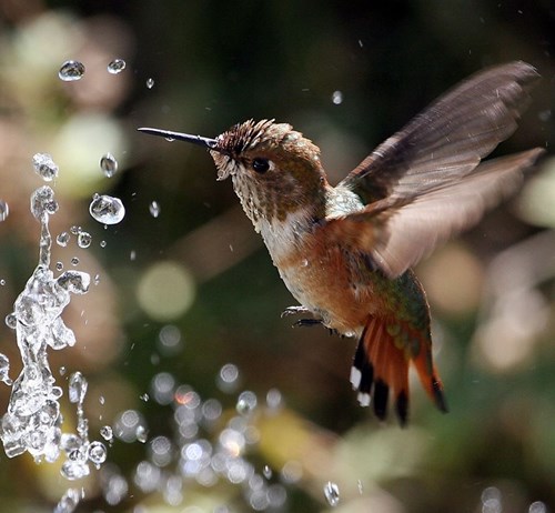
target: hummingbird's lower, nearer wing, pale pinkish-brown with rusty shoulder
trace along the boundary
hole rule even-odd
[[[415,265],[441,241],[476,223],[485,210],[512,194],[541,148],[493,159],[456,183],[405,202],[385,198],[364,210],[329,219],[329,240],[372,255],[390,278]]]

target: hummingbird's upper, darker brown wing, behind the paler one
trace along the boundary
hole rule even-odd
[[[406,203],[457,183],[515,131],[538,77],[525,62],[471,77],[377,147],[337,187],[370,204],[385,198]]]

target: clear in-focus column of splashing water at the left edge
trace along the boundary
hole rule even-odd
[[[69,380],[69,399],[77,405],[77,433],[62,432],[59,400],[63,392],[50,369],[48,348],[61,350],[75,344],[75,335],[61,314],[71,294],[89,290],[90,275],[71,270],[54,276],[50,270],[49,218],[58,210],[52,189],[48,185],[37,189],[31,194],[30,209],[41,227],[39,264],[17,298],[13,313],[6,319],[8,326],[16,330],[23,368],[12,384],[8,411],[0,423],[0,439],[8,457],[28,452],[38,463],[54,462],[63,452],[61,473],[75,480],[89,474],[89,463],[99,466],[105,460],[105,447],[101,442],[89,441],[83,411],[87,380],[80,372]],[[8,374],[9,361],[0,355],[0,380],[10,384]],[[79,500],[79,493],[70,489],[56,511],[70,513]]]

